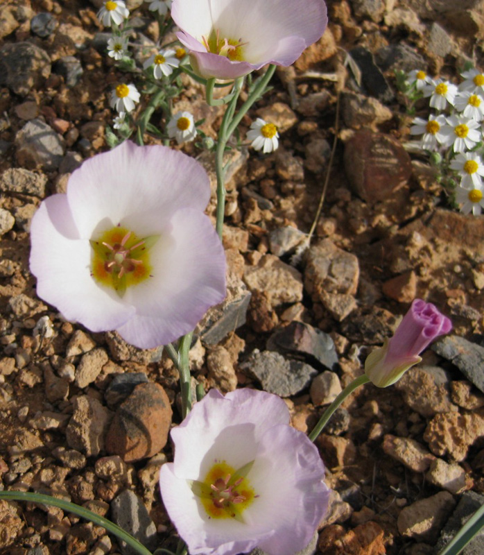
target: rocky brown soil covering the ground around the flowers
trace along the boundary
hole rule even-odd
[[[484,216],[452,210],[425,157],[405,150],[411,119],[395,70],[429,69],[458,83],[466,61],[483,69],[484,4],[327,3],[325,35],[277,71],[251,114],[277,124],[279,150],[230,159],[229,292],[198,328],[193,378],[221,391],[277,393],[305,432],[410,301],[434,302],[451,317],[452,335],[395,386],[361,388],[318,438],[334,493],[305,552],[430,555],[484,502]],[[63,321],[35,296],[28,271],[40,201],[107,148],[108,99],[122,74],[105,55],[98,5],[0,6],[0,487],[70,499],[134,527],[150,549],[173,548],[157,490],[159,466],[172,456],[168,430],[180,422],[171,361],[161,348],[137,350],[115,332]],[[133,40],[157,40],[146,6],[128,6]],[[214,137],[221,110],[186,84],[176,106],[205,117]],[[294,261],[335,136],[322,216]],[[214,182],[207,153],[184,150]],[[60,509],[0,502],[2,554],[119,552],[129,553]],[[466,551],[483,552],[479,538]]]

